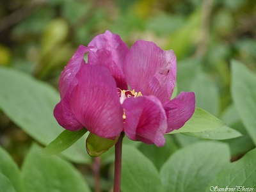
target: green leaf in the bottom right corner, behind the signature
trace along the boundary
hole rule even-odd
[[[256,189],[256,148],[234,163],[227,164],[218,175],[210,182],[206,191],[211,186],[218,188],[244,188]],[[236,190],[238,191],[238,190]],[[248,191],[248,190],[247,190]],[[253,191],[253,190],[251,190]]]

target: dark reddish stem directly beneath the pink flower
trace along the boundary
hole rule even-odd
[[[122,141],[124,138],[124,132],[121,132],[119,140],[115,145],[115,179],[114,179],[114,191],[121,191],[121,169],[122,169]]]

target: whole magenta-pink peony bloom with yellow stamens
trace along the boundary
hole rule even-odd
[[[182,127],[195,111],[193,92],[170,100],[176,72],[172,50],[143,40],[129,49],[120,36],[106,31],[88,47],[80,45],[61,72],[54,116],[70,131],[86,127],[111,139],[124,131],[131,140],[161,147],[164,134]]]

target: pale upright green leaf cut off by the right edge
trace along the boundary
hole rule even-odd
[[[232,61],[231,95],[246,131],[256,145],[256,74],[239,61]]]

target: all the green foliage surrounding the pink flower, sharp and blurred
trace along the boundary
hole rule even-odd
[[[78,45],[87,46],[106,29],[129,47],[142,39],[173,49],[178,86],[172,97],[179,92],[196,94],[195,114],[184,127],[166,135],[164,147],[124,138],[122,190],[255,188],[254,1],[29,2],[0,2],[0,191],[90,191],[86,182],[95,189],[87,170],[93,165],[86,154],[88,132],[63,131],[52,111],[60,101],[56,90],[61,70]],[[48,146],[29,149],[33,141]],[[227,146],[232,161],[242,159],[228,163]],[[103,192],[113,185],[113,148],[100,156]],[[38,152],[61,153],[49,157]],[[22,164],[22,177],[16,163]],[[85,172],[80,163],[86,164]]]

